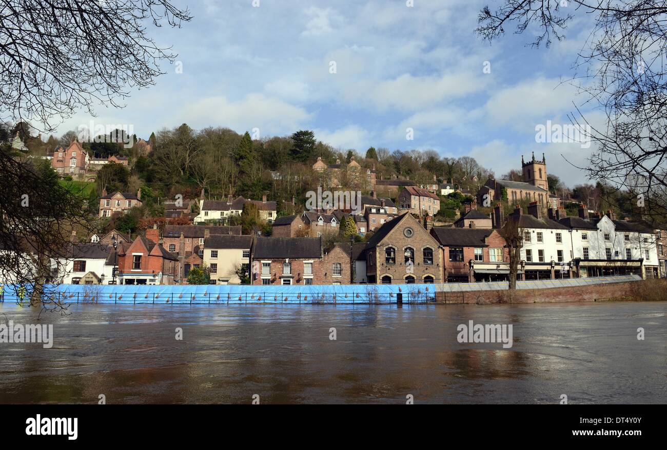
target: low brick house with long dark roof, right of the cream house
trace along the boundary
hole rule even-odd
[[[253,285],[323,284],[321,238],[257,237],[251,253]]]

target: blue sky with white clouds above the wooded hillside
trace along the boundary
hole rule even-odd
[[[181,123],[256,129],[259,137],[311,129],[362,155],[371,146],[469,155],[496,177],[520,169],[521,156],[534,151],[570,187],[587,181],[575,166],[592,148],[536,141],[536,125],[570,123],[568,113],[584,103],[568,79],[590,30],[585,17],[570,24],[566,40],[534,49],[526,45],[530,29],[515,35],[510,25],[492,44],[476,35],[480,9],[497,0],[174,3],[192,21],[147,26],[178,54],[177,64],[162,63],[165,74],[131,91],[123,109],[76,114],[57,135],[91,119],[131,125],[145,139]],[[587,108],[587,119],[601,120]]]

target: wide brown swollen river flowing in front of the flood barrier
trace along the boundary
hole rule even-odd
[[[0,343],[0,403],[667,403],[666,312],[667,302],[72,305],[37,321],[3,303],[2,321],[53,324],[53,347]],[[470,320],[511,324],[512,347],[459,343]]]

